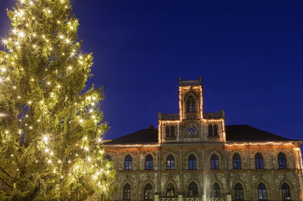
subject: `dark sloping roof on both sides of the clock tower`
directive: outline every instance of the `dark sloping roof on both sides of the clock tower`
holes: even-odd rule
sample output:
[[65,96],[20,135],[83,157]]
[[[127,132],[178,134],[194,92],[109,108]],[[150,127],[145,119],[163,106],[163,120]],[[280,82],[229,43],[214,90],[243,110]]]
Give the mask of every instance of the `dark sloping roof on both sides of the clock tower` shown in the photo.
[[[277,136],[273,133],[260,130],[249,125],[226,125],[226,141],[292,141],[288,138]],[[123,144],[153,144],[158,143],[158,128],[141,129],[129,135],[116,138],[104,145],[123,145]]]

